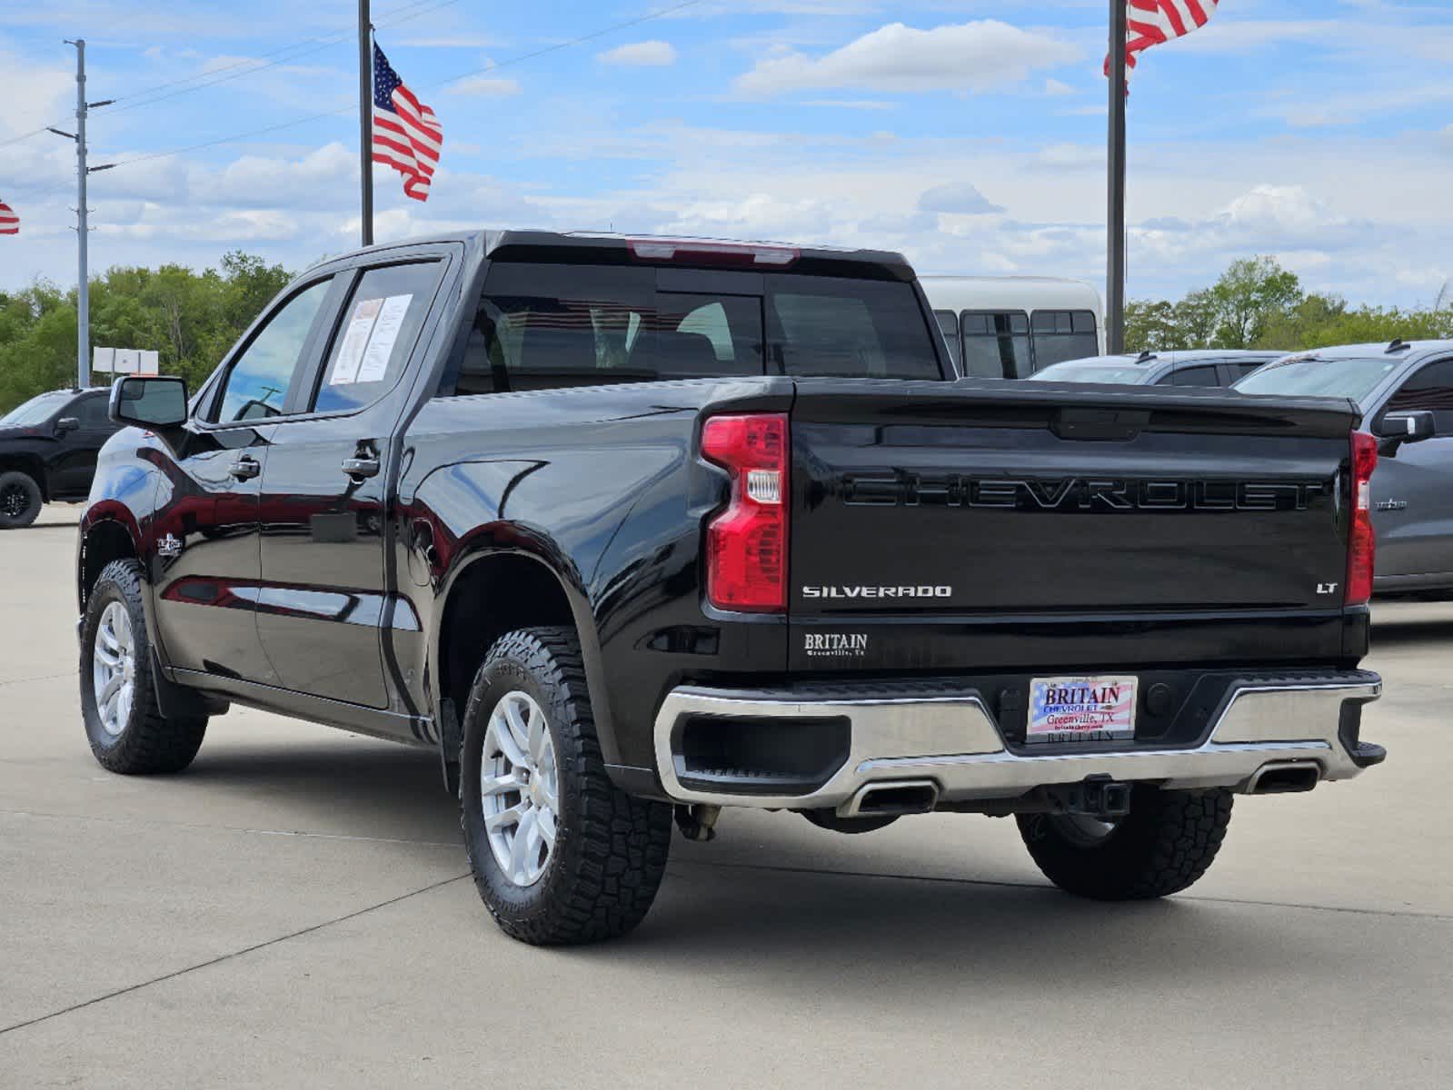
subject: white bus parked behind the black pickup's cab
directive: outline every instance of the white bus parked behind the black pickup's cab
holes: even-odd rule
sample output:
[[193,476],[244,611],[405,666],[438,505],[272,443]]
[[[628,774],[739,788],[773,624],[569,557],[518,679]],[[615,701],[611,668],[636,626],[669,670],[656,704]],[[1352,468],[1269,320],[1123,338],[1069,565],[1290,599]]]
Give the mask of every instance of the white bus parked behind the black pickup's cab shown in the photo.
[[1104,355],[1100,292],[1049,276],[920,276],[960,375],[1029,378]]

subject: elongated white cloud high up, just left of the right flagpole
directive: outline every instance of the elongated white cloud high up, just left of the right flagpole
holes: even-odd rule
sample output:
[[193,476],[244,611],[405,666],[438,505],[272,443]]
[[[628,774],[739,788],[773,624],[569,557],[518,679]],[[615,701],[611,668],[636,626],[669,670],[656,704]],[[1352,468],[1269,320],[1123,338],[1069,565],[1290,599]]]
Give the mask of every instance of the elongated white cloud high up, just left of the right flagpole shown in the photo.
[[758,61],[735,86],[753,97],[825,87],[987,92],[1078,57],[1072,45],[997,19],[931,31],[889,23],[824,57],[789,52]]

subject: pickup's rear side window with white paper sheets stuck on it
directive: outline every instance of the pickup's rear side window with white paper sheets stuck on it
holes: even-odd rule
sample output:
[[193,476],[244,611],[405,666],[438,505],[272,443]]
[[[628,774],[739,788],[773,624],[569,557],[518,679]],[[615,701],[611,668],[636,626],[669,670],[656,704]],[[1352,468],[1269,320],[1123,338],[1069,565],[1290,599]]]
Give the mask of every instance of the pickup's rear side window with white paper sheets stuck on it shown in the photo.
[[439,263],[369,269],[353,288],[312,411],[362,408],[394,388],[418,340],[439,282]]

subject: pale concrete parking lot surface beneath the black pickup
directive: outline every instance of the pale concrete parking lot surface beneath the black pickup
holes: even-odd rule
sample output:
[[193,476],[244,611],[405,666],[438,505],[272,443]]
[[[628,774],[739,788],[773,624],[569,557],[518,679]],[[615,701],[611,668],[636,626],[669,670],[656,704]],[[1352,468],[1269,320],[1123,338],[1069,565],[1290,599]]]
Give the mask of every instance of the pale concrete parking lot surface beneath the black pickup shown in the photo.
[[1453,603],[1376,610],[1388,763],[1239,798],[1187,894],[1051,888],[1011,821],[728,811],[631,937],[506,939],[427,751],[234,709],[125,779],[74,522],[0,535],[0,1086],[1453,1086]]

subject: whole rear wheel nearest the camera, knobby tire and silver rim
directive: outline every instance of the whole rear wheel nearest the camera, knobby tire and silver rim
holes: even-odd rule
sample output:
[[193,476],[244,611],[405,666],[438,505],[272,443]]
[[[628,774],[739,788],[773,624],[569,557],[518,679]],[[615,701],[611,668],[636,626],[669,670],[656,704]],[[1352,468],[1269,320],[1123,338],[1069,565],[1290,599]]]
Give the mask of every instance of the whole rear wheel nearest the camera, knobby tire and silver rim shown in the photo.
[[520,629],[490,648],[465,708],[459,783],[474,881],[506,934],[599,942],[645,919],[671,807],[606,775],[574,632]]

